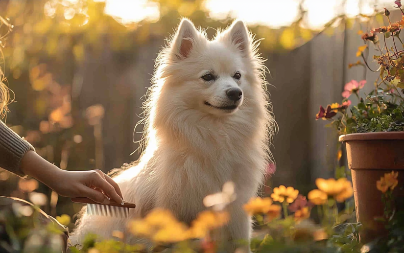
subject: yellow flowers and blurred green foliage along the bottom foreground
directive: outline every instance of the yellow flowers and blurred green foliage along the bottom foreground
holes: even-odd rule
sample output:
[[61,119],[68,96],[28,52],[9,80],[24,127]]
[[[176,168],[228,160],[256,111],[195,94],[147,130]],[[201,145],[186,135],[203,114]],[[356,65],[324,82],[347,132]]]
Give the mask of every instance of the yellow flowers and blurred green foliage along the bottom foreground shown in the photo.
[[[395,211],[393,199],[393,190],[403,191],[402,182],[397,180],[397,176],[398,172],[385,174],[384,179],[389,182],[387,189],[380,188],[379,183],[375,184],[375,187],[383,193],[382,203],[385,211],[379,221],[385,224],[387,230],[380,233],[380,237],[376,240],[365,245],[360,243],[359,233],[364,228],[361,223],[353,222],[356,220],[355,212],[350,208],[341,212],[337,210],[337,202],[352,200],[352,184],[346,178],[317,179],[318,189],[313,191],[322,191],[325,194],[324,201],[319,202],[317,194],[310,193],[307,200],[305,196],[299,194],[299,190],[280,185],[277,187],[278,191],[274,189],[274,193],[284,196],[284,199],[257,197],[244,205],[245,211],[249,215],[255,215],[259,224],[251,240],[251,251],[254,253],[402,252],[404,214]],[[234,186],[230,188],[206,196],[203,202],[208,210],[199,213],[190,226],[178,221],[168,210],[154,209],[144,218],[128,222],[127,230],[114,230],[112,239],[87,234],[82,245],[71,245],[68,241],[68,246],[71,253],[231,252],[228,240],[215,239],[219,229],[230,221],[227,205],[235,199]],[[346,194],[347,192],[350,194]],[[211,205],[212,203],[214,204]],[[320,223],[315,223],[310,218],[310,213],[316,209],[321,213]],[[308,215],[302,215],[303,210],[307,210]],[[62,239],[59,236],[62,231],[60,226],[39,222],[39,211],[37,206],[19,203],[13,203],[11,208],[0,210],[0,251],[4,250],[1,252],[60,252]],[[282,211],[284,216],[281,215]],[[71,222],[68,215],[57,218],[60,223]],[[151,245],[127,244],[127,239],[133,235],[150,239]],[[32,239],[33,237],[36,240]],[[238,245],[244,243],[240,241]]]

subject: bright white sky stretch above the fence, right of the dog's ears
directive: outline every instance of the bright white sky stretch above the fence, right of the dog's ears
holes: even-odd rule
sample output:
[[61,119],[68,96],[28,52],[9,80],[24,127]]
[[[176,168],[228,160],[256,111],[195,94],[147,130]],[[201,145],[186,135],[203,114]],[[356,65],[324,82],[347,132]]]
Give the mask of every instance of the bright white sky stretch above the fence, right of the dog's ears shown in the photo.
[[[224,19],[240,18],[249,24],[263,24],[273,28],[287,26],[298,18],[299,0],[207,0],[206,8],[210,17]],[[346,2],[345,8],[343,2]],[[370,15],[382,7],[392,7],[392,0],[306,0],[303,9],[307,10],[306,26],[321,29],[334,17],[346,14],[355,17],[358,14]],[[392,9],[392,8],[391,8]]]

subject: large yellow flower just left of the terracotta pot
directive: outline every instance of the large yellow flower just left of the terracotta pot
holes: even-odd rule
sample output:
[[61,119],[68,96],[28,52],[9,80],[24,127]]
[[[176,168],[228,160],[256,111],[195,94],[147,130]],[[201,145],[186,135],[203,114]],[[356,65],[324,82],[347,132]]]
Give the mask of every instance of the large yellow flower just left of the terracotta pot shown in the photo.
[[329,196],[333,196],[338,202],[343,202],[346,199],[352,197],[352,195],[354,194],[352,183],[346,178],[340,178],[338,180],[335,180],[333,178],[318,178],[316,179],[316,185],[318,189],[327,193]]

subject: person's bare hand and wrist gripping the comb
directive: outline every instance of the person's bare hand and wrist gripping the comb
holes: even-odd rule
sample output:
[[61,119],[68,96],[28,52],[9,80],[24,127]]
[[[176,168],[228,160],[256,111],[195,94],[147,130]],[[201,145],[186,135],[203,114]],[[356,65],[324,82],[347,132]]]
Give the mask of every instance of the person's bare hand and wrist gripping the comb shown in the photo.
[[86,197],[106,205],[110,200],[123,203],[118,184],[100,170],[62,170],[33,151],[24,155],[21,168],[26,175],[41,181],[61,196]]

